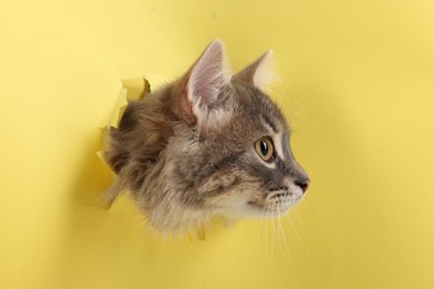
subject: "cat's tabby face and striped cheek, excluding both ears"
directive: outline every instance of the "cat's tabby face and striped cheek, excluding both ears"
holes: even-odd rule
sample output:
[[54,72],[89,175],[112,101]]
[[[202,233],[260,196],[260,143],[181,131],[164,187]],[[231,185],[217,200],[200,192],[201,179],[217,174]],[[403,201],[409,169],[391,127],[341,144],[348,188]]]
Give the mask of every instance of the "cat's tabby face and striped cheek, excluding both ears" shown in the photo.
[[292,153],[287,122],[260,90],[237,79],[231,88],[236,112],[226,123],[205,137],[196,131],[183,148],[176,146],[177,151],[187,148],[185,158],[175,161],[178,179],[195,188],[184,200],[231,217],[284,213],[309,183]]

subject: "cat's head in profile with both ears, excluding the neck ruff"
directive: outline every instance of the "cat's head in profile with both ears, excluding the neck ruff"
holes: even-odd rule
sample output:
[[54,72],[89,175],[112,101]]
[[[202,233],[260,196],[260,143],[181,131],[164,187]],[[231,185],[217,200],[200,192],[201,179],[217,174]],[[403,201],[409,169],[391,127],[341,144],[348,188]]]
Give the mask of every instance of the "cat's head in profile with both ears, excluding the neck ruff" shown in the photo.
[[303,198],[309,177],[292,152],[284,114],[264,92],[270,56],[231,74],[216,40],[183,78],[188,126],[178,128],[169,153],[188,206],[260,217],[286,212]]

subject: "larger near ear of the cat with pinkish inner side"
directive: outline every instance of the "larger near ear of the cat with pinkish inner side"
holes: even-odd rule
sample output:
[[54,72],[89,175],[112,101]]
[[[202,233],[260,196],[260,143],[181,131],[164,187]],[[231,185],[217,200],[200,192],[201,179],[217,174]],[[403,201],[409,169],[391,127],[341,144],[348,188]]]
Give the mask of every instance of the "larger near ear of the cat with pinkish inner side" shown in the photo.
[[191,68],[187,83],[187,98],[196,118],[206,118],[218,107],[220,90],[229,82],[224,46],[214,40]]

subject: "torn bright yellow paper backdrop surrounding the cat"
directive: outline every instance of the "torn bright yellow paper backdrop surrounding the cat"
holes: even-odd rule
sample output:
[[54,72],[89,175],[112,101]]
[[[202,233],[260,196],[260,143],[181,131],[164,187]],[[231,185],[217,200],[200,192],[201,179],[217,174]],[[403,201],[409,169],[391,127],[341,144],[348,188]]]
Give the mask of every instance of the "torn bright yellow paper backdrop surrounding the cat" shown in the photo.
[[[1,288],[434,288],[433,1],[0,7]],[[161,241],[128,198],[96,206],[121,80],[174,79],[214,38],[235,70],[275,50],[313,179],[287,250],[277,221]]]

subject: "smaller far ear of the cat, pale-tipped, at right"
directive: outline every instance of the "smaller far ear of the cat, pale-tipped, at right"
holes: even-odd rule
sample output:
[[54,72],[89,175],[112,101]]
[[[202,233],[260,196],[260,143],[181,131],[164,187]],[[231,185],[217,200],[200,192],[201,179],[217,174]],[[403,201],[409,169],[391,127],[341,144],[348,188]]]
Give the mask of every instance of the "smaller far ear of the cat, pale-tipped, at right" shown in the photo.
[[265,90],[269,83],[277,79],[277,74],[270,68],[272,58],[273,50],[268,50],[255,62],[236,73],[234,78],[246,81],[260,90]]

